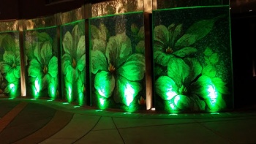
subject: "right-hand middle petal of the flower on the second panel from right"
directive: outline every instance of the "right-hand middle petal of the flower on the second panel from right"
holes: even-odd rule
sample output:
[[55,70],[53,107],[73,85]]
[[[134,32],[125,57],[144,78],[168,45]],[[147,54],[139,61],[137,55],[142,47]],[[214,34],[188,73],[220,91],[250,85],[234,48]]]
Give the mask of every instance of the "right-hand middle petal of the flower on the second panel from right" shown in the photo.
[[142,80],[145,75],[144,61],[127,61],[118,69],[118,73],[128,80]]

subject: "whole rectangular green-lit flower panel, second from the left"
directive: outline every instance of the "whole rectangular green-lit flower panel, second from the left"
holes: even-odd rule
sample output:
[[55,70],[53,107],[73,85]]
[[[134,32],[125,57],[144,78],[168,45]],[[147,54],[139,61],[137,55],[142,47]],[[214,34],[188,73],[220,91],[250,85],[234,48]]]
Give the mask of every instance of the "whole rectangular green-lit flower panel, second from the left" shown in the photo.
[[59,97],[56,28],[25,31],[26,87],[34,98]]

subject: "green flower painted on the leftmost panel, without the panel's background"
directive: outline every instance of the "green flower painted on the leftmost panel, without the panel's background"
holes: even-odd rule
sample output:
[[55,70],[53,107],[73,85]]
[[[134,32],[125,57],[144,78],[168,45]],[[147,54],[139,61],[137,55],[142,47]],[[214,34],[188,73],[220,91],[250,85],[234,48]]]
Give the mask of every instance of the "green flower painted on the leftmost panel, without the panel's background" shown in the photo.
[[10,34],[1,37],[1,48],[4,48],[3,61],[0,62],[1,75],[7,80],[1,87],[4,94],[17,96],[20,87],[20,48]]

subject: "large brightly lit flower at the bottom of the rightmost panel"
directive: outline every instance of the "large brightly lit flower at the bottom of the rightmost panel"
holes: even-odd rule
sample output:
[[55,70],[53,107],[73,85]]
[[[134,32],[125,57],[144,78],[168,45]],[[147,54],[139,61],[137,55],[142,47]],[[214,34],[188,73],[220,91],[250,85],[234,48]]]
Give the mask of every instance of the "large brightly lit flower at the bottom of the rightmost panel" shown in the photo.
[[170,58],[167,76],[160,76],[156,81],[156,93],[168,102],[171,110],[222,109],[225,107],[221,94],[224,83],[201,72],[196,58]]

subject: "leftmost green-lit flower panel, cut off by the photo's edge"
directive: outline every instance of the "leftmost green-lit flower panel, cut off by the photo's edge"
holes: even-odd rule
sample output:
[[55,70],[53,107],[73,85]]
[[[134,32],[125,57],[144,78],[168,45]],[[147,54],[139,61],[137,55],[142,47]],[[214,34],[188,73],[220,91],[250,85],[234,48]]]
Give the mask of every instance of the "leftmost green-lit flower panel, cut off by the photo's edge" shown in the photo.
[[0,34],[0,95],[20,96],[20,46],[18,32]]

